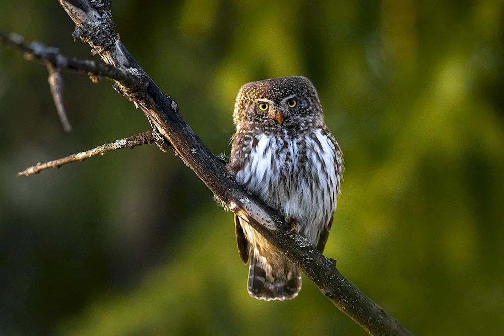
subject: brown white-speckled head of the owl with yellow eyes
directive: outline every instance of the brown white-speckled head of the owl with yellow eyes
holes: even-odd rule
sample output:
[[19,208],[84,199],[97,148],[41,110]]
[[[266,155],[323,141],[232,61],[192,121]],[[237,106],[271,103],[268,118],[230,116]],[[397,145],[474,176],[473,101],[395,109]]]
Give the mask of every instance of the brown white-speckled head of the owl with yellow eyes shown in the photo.
[[302,76],[265,79],[243,85],[236,97],[237,129],[303,129],[323,123],[317,90]]

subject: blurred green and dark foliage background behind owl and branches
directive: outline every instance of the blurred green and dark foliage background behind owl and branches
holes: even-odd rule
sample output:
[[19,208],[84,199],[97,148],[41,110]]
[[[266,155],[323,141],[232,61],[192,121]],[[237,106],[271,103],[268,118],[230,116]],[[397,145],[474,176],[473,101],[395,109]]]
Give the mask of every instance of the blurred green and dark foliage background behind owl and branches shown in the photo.
[[[304,75],[346,162],[325,254],[418,335],[504,329],[504,3],[115,1],[124,44],[215,153],[246,82]],[[92,58],[57,2],[0,2],[0,30]],[[96,57],[94,58],[97,59]],[[149,130],[111,82],[0,48],[0,334],[365,332],[305,278],[248,297],[232,214],[172,152],[16,172]]]

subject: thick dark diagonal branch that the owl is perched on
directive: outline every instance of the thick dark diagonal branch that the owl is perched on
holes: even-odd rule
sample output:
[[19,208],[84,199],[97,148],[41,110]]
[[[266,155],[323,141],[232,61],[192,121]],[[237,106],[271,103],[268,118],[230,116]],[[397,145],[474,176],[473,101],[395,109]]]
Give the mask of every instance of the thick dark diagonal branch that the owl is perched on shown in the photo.
[[[253,195],[245,193],[234,178],[203,144],[178,113],[176,102],[161,92],[118,39],[107,0],[58,0],[77,28],[80,37],[102,60],[120,71],[134,69],[145,89],[130,85],[127,80],[116,83],[115,89],[141,107],[159,133],[173,146],[175,153],[198,175],[207,187],[231,211],[247,220],[279,251],[299,266],[335,306],[350,316],[372,335],[411,335],[398,321],[359,291],[328,259],[299,235],[284,234],[283,216],[265,206]],[[94,7],[92,4],[100,5]],[[133,76],[132,76],[133,77]]]

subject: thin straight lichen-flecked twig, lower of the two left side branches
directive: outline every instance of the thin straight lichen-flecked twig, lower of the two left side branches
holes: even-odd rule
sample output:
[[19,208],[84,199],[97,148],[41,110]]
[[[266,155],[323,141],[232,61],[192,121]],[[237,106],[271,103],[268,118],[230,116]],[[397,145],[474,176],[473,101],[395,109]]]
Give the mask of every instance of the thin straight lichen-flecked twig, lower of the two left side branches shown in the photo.
[[[92,157],[92,156],[96,156],[96,155],[103,155],[106,152],[111,152],[113,150],[117,150],[117,149],[121,149],[121,148],[128,147],[128,148],[133,149],[136,146],[140,146],[143,144],[151,144],[154,141],[159,141],[159,140],[163,141],[162,137],[159,135],[159,133],[154,132],[154,131],[135,134],[129,138],[116,140],[113,143],[106,143],[104,145],[87,150],[85,152],[72,154],[67,157],[59,158],[57,160],[52,160],[49,162],[37,163],[36,165],[31,166],[22,172],[19,172],[18,176],[23,176],[23,175],[30,176],[32,174],[38,174],[41,171],[48,169],[48,168],[59,168],[60,166],[67,164],[67,163],[71,163],[71,162],[75,162],[75,161],[84,161],[88,157]],[[169,148],[169,145],[167,145],[166,142],[158,143],[158,146],[163,146],[163,147]]]

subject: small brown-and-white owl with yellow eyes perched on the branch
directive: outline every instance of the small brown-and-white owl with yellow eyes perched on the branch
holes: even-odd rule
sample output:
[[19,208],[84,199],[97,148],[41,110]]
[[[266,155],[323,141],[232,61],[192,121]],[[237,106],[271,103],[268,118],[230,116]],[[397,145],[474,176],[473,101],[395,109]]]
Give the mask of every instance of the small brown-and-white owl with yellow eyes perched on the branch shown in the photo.
[[[343,171],[338,143],[329,132],[317,90],[301,76],[243,85],[233,113],[236,133],[227,169],[247,192],[285,215],[291,230],[324,250]],[[235,215],[236,241],[250,261],[248,293],[288,300],[301,289],[301,271]]]

